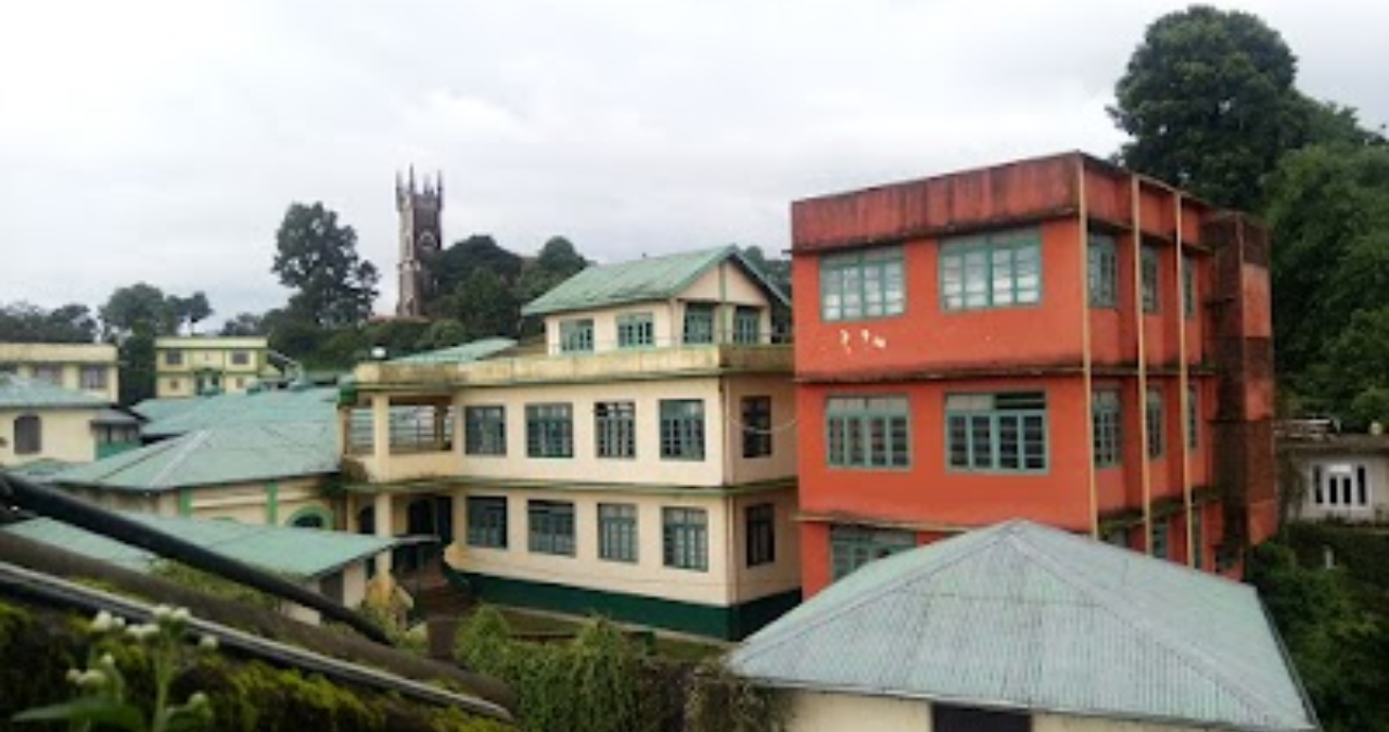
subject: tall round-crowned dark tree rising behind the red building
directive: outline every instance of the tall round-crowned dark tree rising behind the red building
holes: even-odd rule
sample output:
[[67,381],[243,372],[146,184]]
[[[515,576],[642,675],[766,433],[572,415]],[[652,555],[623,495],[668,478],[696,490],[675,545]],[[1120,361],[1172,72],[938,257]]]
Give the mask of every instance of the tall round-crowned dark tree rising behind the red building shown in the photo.
[[1110,117],[1136,171],[1246,211],[1264,176],[1300,146],[1311,113],[1297,60],[1258,17],[1192,6],[1149,25],[1115,85]]

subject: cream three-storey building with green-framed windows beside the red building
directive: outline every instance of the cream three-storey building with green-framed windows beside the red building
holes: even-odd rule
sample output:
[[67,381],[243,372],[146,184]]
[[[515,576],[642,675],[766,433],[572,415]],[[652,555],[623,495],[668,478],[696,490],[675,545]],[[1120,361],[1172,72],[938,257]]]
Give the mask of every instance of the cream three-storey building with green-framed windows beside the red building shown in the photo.
[[733,247],[653,257],[528,304],[536,346],[361,365],[349,519],[440,536],[486,601],[742,638],[800,597],[783,306]]

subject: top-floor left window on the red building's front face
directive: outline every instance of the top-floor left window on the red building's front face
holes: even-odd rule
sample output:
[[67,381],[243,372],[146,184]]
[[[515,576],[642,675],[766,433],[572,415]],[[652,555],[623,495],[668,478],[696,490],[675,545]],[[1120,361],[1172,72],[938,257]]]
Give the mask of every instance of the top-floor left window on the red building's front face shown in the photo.
[[857,321],[900,315],[907,306],[901,247],[820,260],[820,315]]

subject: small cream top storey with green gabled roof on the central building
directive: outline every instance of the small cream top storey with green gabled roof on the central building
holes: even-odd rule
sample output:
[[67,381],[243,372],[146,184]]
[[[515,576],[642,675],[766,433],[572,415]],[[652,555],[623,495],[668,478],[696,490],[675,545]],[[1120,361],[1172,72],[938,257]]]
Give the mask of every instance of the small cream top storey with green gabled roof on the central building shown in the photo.
[[786,296],[735,246],[590,267],[521,308],[551,354],[772,343]]

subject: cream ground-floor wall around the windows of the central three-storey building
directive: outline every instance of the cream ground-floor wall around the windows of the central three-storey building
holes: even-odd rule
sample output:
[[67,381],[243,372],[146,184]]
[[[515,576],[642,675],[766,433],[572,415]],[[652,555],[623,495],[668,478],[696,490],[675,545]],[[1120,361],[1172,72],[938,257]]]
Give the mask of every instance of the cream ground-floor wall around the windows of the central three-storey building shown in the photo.
[[[507,499],[507,549],[467,546],[467,496]],[[456,493],[463,519],[454,526],[457,540],[446,558],[460,571],[500,575],[531,582],[549,582],[593,590],[664,597],[696,604],[726,607],[800,586],[799,553],[795,546],[795,492],[782,489],[760,497],[679,494],[636,494],[628,492],[467,489]],[[528,549],[529,500],[574,503],[575,556],[531,553]],[[743,507],[771,500],[776,503],[776,561],[745,568]],[[599,503],[636,506],[638,561],[599,558]],[[664,565],[663,508],[703,508],[708,518],[708,569]]]

